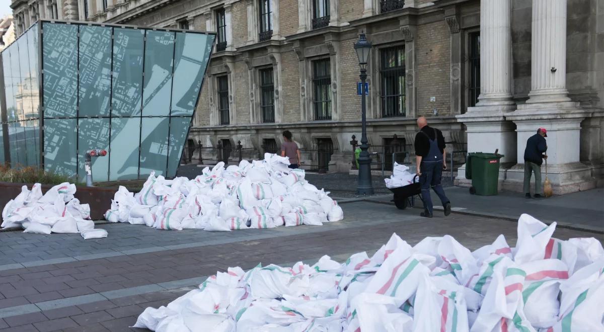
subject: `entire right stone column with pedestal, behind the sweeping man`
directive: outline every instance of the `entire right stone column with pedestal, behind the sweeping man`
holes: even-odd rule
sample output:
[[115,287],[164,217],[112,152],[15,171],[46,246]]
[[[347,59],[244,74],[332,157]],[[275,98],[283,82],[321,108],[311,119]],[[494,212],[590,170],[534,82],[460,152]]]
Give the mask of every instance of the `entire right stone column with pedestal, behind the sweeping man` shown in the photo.
[[509,189],[522,190],[526,141],[539,127],[547,129],[548,178],[554,194],[596,185],[590,168],[579,162],[581,123],[591,112],[568,98],[566,24],[566,0],[533,0],[531,91],[525,104],[506,115],[518,133],[518,164],[507,171],[504,183]]

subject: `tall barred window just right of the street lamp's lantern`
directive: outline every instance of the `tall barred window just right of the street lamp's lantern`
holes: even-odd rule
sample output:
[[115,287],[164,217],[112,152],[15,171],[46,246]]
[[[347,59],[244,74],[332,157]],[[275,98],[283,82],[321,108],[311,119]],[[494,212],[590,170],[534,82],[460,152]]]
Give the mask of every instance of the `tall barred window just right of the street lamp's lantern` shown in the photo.
[[384,48],[380,53],[382,117],[404,117],[405,46]]

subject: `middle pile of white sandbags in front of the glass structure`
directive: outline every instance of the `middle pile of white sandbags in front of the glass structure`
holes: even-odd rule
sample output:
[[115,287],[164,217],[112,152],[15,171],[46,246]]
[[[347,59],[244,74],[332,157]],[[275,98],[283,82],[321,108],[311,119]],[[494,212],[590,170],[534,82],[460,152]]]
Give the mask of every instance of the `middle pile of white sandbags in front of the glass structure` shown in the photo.
[[344,218],[329,193],[304,180],[304,170],[288,165],[288,158],[266,153],[263,161],[226,168],[219,162],[193,180],[152,173],[140,193],[120,187],[105,219],[157,229],[231,231],[320,226]]

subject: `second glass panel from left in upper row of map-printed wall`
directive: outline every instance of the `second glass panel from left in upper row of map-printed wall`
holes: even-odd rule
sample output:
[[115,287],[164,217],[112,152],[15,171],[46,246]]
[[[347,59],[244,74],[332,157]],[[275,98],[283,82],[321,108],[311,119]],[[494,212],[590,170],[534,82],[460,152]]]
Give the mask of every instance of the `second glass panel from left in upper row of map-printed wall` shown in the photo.
[[109,115],[111,28],[80,26],[79,117]]

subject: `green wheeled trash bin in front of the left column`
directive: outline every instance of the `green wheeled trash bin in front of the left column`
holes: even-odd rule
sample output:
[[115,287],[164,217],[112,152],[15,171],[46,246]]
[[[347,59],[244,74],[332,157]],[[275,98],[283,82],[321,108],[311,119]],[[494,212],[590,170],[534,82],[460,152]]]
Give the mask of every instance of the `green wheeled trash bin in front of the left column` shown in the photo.
[[472,152],[466,159],[466,179],[472,180],[471,194],[492,196],[497,194],[500,159],[498,153]]

